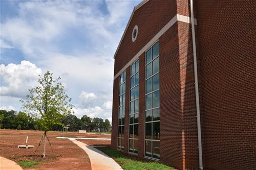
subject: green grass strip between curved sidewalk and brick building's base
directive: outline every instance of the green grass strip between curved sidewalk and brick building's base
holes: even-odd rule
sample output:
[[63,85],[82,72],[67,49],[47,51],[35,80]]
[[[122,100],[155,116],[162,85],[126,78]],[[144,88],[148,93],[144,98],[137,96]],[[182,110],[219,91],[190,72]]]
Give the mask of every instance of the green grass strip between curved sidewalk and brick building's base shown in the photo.
[[165,164],[150,161],[144,162],[136,160],[134,157],[129,157],[124,155],[122,152],[117,150],[112,150],[110,147],[95,147],[98,150],[104,152],[113,158],[124,170],[170,170],[175,169],[174,167],[167,166]]

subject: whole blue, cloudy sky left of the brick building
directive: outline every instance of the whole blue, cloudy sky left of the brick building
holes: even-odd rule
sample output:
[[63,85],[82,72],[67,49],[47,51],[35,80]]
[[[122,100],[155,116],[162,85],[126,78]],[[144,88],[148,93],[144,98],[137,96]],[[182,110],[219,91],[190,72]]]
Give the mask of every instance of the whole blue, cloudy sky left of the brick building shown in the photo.
[[61,77],[77,117],[112,119],[114,59],[141,1],[1,1],[0,108],[20,99],[47,70]]

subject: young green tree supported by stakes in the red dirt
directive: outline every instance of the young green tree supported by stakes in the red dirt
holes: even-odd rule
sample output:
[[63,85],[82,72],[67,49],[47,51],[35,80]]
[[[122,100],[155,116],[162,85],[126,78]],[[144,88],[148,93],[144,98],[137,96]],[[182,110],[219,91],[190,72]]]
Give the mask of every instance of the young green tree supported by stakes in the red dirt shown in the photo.
[[44,139],[44,157],[46,154],[46,138],[48,139],[47,131],[55,125],[64,126],[60,122],[61,118],[70,115],[74,107],[69,104],[71,98],[65,93],[64,86],[61,85],[59,80],[60,77],[54,80],[50,71],[47,71],[43,77],[39,75],[39,86],[29,89],[25,101],[20,100],[25,112],[37,118],[40,127],[44,130],[42,137]]

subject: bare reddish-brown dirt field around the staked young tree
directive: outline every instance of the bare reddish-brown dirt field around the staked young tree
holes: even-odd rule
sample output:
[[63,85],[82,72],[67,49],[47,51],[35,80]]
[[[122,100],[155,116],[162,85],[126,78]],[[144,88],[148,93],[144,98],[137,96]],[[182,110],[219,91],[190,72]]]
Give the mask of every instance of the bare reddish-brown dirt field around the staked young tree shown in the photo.
[[[90,159],[86,152],[77,147],[69,139],[56,139],[62,136],[61,132],[48,132],[48,137],[52,144],[53,152],[47,142],[46,158],[42,158],[43,145],[41,145],[34,155],[36,147],[44,132],[25,130],[0,130],[0,156],[11,159],[15,162],[20,160],[36,160],[42,163],[34,168],[24,169],[91,169]],[[26,137],[29,136],[28,144],[35,145],[34,149],[18,149],[17,145],[26,144]],[[65,137],[96,137],[111,138],[111,135],[101,134],[78,134],[73,132],[64,133]],[[80,141],[89,145],[110,145],[110,140],[84,140]]]

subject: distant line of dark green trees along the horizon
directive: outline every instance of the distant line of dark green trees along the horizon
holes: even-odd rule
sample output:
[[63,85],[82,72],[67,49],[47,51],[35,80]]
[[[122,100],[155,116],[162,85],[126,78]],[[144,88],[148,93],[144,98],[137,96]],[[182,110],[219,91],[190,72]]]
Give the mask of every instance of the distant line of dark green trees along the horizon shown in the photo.
[[[24,112],[14,110],[0,110],[0,129],[19,129],[19,130],[42,130],[38,118],[30,117]],[[109,119],[91,118],[83,115],[77,118],[74,114],[63,116],[61,123],[69,125],[68,131],[87,130],[88,132],[110,132],[111,124]],[[62,131],[61,126],[52,127],[52,131]]]

